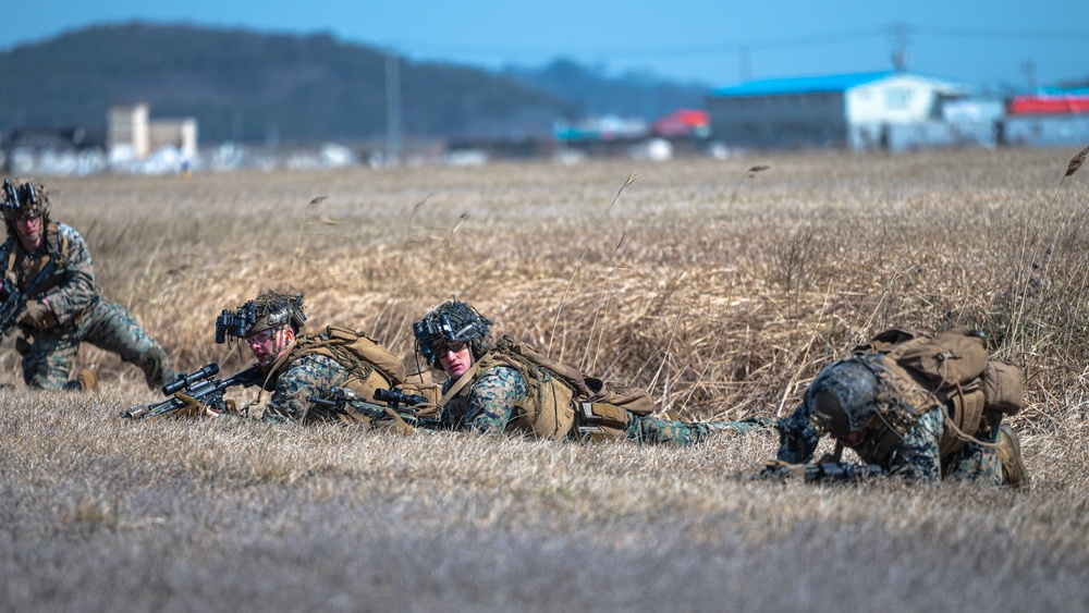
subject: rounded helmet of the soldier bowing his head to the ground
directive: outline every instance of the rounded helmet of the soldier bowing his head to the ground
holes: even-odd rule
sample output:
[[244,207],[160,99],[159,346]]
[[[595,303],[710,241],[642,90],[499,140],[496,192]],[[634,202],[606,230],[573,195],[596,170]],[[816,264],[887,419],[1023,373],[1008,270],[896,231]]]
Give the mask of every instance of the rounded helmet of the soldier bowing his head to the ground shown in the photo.
[[877,376],[861,359],[835,361],[817,376],[805,402],[818,432],[845,437],[867,430],[878,417]]

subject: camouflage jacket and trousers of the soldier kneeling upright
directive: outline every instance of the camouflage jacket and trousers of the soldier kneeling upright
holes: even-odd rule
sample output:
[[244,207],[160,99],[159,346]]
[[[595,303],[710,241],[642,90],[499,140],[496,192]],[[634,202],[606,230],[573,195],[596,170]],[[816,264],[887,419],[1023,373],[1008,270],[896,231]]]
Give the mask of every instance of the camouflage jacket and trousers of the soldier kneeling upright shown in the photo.
[[[29,348],[23,347],[23,380],[33,388],[76,388],[70,381],[79,343],[118,354],[144,371],[148,388],[157,389],[174,378],[162,347],[120,305],[108,303],[95,284],[95,274],[87,244],[78,232],[65,224],[45,224],[41,248],[26,253],[9,229],[8,240],[0,247],[0,261],[11,261],[9,278],[21,291],[37,277],[47,256],[59,259],[58,268],[47,281],[48,290],[30,299],[45,298],[56,316],[54,326],[46,329],[26,323],[20,330],[33,338]],[[66,249],[62,245],[66,243]],[[51,286],[50,286],[51,285]],[[41,285],[39,285],[41,286]],[[25,352],[25,353],[24,353]]]

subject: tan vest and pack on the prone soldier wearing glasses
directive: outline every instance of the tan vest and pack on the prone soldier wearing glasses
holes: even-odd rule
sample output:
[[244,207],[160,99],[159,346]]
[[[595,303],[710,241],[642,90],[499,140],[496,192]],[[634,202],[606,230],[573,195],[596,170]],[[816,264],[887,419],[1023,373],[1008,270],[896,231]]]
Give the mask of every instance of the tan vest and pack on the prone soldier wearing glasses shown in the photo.
[[[389,390],[405,384],[404,365],[395,355],[370,336],[347,328],[329,326],[323,334],[299,336],[287,354],[284,366],[308,355],[332,358],[347,369],[348,379],[343,387],[367,401],[375,397],[375,390]],[[335,417],[348,424],[369,421],[354,412],[340,413]]]

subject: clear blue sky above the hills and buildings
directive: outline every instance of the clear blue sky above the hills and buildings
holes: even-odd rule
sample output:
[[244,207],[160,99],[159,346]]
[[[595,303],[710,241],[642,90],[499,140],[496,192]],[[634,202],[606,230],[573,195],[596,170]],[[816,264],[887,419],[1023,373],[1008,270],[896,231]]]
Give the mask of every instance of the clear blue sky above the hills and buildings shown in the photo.
[[485,68],[565,57],[610,74],[646,71],[715,87],[885,70],[897,48],[910,70],[984,88],[1089,79],[1086,0],[37,0],[9,2],[3,17],[3,50],[142,20],[320,32],[414,60]]

